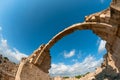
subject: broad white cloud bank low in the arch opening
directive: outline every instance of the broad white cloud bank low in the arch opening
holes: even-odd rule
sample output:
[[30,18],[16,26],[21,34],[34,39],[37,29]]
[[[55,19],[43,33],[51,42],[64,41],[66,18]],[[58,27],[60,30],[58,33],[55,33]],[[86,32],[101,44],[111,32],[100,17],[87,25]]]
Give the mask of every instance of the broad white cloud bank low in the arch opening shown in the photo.
[[86,72],[94,71],[100,66],[102,59],[96,60],[93,56],[87,56],[83,62],[76,62],[73,65],[64,63],[52,64],[50,69],[51,76],[75,76]]

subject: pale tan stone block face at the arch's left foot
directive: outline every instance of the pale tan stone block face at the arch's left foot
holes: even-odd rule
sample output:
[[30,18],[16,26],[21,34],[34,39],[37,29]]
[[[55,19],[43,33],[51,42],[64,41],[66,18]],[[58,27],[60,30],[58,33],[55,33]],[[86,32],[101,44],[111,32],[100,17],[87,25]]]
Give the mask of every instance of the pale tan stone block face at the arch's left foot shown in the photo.
[[[17,76],[20,75],[20,76]],[[50,80],[49,74],[43,72],[39,67],[22,60],[15,80]]]

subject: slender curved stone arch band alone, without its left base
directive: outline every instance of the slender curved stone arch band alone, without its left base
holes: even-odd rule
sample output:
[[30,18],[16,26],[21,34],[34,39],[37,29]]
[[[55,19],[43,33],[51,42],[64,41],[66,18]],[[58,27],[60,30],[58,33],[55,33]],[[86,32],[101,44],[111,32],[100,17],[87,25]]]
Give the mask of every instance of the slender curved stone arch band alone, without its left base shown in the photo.
[[42,54],[50,50],[50,48],[54,46],[54,44],[58,42],[60,39],[62,39],[64,36],[69,35],[77,30],[87,30],[87,29],[92,30],[96,35],[98,35],[100,38],[107,41],[108,43],[111,43],[113,41],[111,37],[113,37],[116,34],[116,30],[117,30],[116,27],[106,23],[83,22],[83,23],[74,24],[64,29],[63,31],[59,32],[57,35],[55,35],[41,50],[34,64],[40,65],[42,63],[42,60],[40,60]]

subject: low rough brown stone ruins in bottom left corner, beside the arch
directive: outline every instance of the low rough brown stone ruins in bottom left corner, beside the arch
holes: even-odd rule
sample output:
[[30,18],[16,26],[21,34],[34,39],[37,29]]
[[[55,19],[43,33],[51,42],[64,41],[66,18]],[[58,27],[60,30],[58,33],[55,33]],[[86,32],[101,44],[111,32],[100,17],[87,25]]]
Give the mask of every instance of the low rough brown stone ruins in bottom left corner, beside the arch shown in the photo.
[[18,65],[0,55],[0,80],[15,80]]

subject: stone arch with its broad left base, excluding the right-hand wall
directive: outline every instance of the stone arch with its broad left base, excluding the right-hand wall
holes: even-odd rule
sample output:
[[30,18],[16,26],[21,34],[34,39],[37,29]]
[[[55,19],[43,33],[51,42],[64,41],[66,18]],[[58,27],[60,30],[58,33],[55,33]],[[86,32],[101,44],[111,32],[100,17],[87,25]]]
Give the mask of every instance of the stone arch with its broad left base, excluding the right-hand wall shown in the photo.
[[96,35],[101,37],[103,40],[106,40],[106,49],[108,51],[112,51],[110,45],[116,44],[114,43],[114,39],[118,30],[116,26],[100,22],[83,22],[74,24],[59,32],[47,44],[39,47],[31,56],[23,59],[19,65],[15,80],[50,80],[48,74],[51,64],[49,52],[50,48],[64,36],[69,35],[77,30],[86,29],[92,30]]

